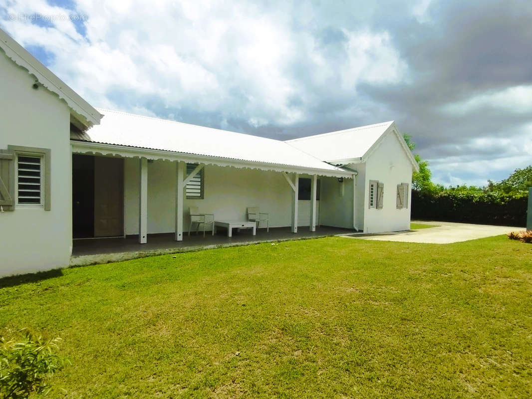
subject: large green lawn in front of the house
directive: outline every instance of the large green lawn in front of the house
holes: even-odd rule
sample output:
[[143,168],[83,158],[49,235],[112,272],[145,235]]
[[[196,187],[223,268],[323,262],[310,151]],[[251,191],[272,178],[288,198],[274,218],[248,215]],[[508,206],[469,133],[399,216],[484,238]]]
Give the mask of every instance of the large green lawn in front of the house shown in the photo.
[[530,397],[531,248],[330,237],[65,269],[0,281],[0,326],[63,338],[50,397]]

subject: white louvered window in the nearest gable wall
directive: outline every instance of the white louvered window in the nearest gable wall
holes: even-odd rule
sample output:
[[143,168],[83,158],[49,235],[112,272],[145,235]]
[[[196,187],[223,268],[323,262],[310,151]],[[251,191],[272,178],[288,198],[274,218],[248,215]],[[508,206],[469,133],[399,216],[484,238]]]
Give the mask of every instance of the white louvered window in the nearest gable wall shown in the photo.
[[40,205],[43,185],[42,157],[19,155],[16,167],[18,203]]

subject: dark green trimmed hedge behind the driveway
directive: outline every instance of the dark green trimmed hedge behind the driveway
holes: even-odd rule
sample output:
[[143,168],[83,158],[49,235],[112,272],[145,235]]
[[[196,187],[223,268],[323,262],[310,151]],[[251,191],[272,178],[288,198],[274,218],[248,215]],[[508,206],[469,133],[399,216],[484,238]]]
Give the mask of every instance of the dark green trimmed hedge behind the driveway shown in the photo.
[[412,219],[525,227],[527,206],[527,193],[412,190]]

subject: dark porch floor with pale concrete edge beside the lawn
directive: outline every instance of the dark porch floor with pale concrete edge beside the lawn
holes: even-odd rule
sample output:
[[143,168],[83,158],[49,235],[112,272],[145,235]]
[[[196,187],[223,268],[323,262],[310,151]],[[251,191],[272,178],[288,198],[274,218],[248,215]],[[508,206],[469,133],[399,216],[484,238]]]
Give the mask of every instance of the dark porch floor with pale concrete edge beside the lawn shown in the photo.
[[307,238],[318,238],[327,236],[341,236],[353,234],[356,230],[343,229],[338,227],[316,227],[316,231],[310,231],[309,227],[298,227],[298,232],[293,234],[290,227],[270,228],[257,230],[254,236],[251,229],[243,229],[237,232],[233,230],[232,237],[227,237],[227,230],[219,228],[217,234],[211,232],[195,234],[195,232],[184,233],[182,241],[174,241],[173,233],[148,234],[147,243],[139,244],[137,236],[127,238],[88,238],[75,239],[73,242],[71,266],[81,266],[88,264],[109,263],[135,259],[138,257],[163,255],[169,253],[188,252],[204,250],[209,248],[219,248],[228,246],[239,246],[257,244],[262,242],[277,242],[286,240],[297,240]]

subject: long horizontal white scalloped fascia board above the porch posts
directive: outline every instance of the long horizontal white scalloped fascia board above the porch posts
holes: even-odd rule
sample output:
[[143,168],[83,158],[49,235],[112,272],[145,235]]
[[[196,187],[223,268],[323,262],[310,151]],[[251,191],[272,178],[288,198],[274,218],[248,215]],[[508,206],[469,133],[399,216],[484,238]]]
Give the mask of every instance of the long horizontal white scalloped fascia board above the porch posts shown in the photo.
[[326,177],[344,177],[353,178],[353,172],[346,170],[328,170],[314,168],[298,168],[290,165],[280,165],[265,162],[252,162],[243,160],[234,160],[229,158],[186,154],[173,151],[164,151],[161,149],[127,147],[115,144],[90,143],[78,140],[70,140],[72,153],[92,154],[92,155],[111,155],[126,158],[144,157],[152,160],[165,161],[183,161],[187,163],[204,163],[206,165],[216,165],[219,167],[234,167],[246,169],[259,169],[265,171],[288,172],[298,174],[318,174]]

